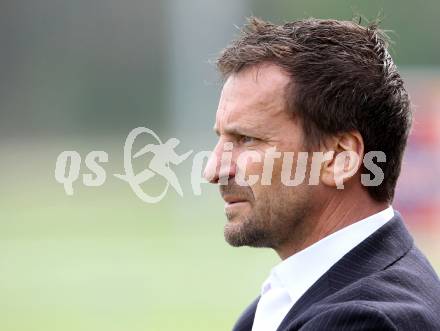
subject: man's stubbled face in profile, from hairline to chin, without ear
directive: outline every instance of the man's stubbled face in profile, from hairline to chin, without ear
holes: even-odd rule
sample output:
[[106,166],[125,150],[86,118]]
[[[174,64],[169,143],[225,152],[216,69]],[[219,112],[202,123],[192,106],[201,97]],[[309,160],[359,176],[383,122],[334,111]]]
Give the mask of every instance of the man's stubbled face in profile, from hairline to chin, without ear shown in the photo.
[[[216,114],[219,136],[205,169],[212,183],[223,182],[220,193],[225,200],[225,239],[233,246],[277,248],[299,236],[297,231],[311,206],[311,188],[305,184],[285,186],[281,182],[282,157],[274,160],[270,185],[262,185],[263,160],[267,150],[294,152],[303,148],[299,121],[286,109],[289,76],[273,64],[253,66],[229,76],[223,86]],[[230,167],[221,166],[226,143],[232,143]],[[239,158],[243,152],[258,153],[261,162]],[[246,164],[247,163],[247,164]],[[237,184],[236,176],[258,175],[252,185]],[[292,171],[292,178],[294,171]]]

